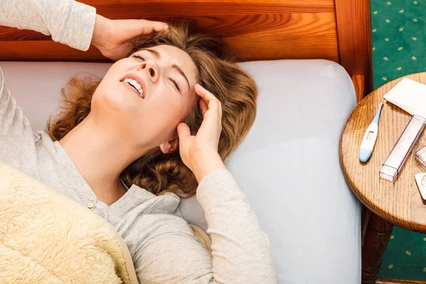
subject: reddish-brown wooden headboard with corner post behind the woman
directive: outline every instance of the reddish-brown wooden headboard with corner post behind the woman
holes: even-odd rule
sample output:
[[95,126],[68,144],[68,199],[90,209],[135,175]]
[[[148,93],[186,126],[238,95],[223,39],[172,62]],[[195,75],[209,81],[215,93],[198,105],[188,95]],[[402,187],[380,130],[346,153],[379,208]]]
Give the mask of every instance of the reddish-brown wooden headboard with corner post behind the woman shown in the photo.
[[[239,61],[333,60],[349,72],[359,94],[372,87],[369,0],[79,1],[107,18],[185,18],[197,30],[223,36]],[[110,62],[94,47],[82,52],[41,33],[3,26],[0,60]]]

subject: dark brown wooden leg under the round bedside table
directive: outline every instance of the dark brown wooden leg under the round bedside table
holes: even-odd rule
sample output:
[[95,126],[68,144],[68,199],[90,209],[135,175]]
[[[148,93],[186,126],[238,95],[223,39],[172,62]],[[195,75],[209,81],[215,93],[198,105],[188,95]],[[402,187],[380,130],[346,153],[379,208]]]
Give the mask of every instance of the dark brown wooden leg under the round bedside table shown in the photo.
[[373,212],[370,213],[368,226],[364,235],[362,246],[362,266],[361,283],[374,284],[380,271],[383,253],[388,246],[393,224],[378,217]]

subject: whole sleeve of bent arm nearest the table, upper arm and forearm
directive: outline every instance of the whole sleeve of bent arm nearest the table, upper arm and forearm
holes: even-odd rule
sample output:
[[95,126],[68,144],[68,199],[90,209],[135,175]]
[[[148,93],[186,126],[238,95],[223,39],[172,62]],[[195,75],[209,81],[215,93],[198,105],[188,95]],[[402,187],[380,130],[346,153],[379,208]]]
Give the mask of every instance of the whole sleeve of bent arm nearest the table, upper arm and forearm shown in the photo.
[[[268,238],[228,170],[205,176],[197,198],[206,214],[212,253],[185,220],[163,215],[155,234],[139,244],[141,283],[278,283]],[[179,220],[180,219],[180,220]]]

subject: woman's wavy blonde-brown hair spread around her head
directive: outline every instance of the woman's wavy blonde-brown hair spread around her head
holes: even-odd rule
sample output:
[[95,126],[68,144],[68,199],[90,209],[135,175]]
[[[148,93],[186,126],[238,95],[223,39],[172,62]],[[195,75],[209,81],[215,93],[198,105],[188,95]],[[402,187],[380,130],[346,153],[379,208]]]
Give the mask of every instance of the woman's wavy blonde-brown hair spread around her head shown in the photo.
[[[141,48],[155,45],[173,45],[190,55],[197,66],[199,83],[222,102],[222,133],[218,152],[225,159],[253,125],[256,116],[256,84],[228,57],[229,53],[226,53],[226,45],[222,39],[192,33],[185,23],[169,26],[168,30],[153,33],[136,44],[129,55]],[[61,111],[50,116],[48,121],[48,133],[53,141],[59,141],[89,114],[92,95],[102,80],[97,76],[92,79],[91,75],[88,73],[83,78],[76,75],[62,88]],[[200,98],[197,96],[198,99]],[[195,135],[202,123],[200,107],[194,107],[185,123]],[[120,178],[128,187],[135,184],[155,195],[175,192],[180,197],[190,197],[197,190],[197,180],[182,162],[179,151],[170,154],[164,154],[160,150],[147,153],[133,161],[121,173]]]

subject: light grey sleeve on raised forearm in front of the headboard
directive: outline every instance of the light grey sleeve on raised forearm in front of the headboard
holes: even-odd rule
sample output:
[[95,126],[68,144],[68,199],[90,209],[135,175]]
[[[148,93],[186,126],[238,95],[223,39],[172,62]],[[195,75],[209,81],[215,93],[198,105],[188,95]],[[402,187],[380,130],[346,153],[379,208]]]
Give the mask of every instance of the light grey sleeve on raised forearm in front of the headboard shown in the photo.
[[0,26],[51,35],[58,43],[86,51],[96,9],[74,0],[1,0]]

